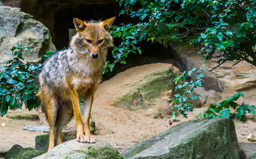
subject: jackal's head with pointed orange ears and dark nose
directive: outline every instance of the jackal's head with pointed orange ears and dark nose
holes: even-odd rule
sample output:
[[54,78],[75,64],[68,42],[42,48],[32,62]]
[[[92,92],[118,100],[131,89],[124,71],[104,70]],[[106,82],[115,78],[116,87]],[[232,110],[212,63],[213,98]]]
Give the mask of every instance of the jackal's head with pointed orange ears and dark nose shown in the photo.
[[80,53],[90,55],[97,59],[104,57],[106,49],[113,47],[113,39],[109,33],[110,27],[116,17],[104,21],[82,21],[74,18],[74,25],[77,34],[72,37],[71,47],[76,48]]

